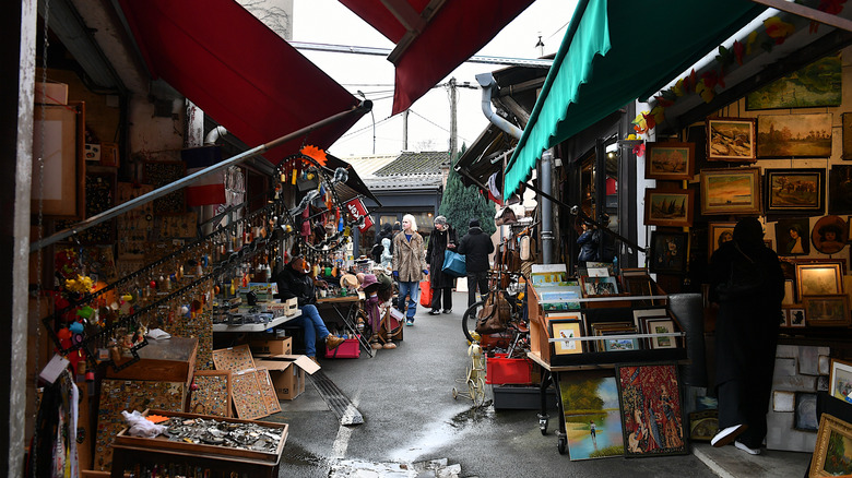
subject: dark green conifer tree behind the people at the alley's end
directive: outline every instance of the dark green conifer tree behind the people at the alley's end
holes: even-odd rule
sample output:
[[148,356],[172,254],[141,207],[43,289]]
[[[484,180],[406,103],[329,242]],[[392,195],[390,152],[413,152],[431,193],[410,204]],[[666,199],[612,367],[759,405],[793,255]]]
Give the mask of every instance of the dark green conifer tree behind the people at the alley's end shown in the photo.
[[[464,153],[466,148],[466,145],[462,145],[461,152]],[[465,187],[452,166],[450,167],[438,214],[447,217],[450,226],[455,228],[459,239],[468,234],[468,224],[474,217],[480,219],[483,232],[493,235],[497,230],[494,225],[495,204],[480,194],[475,186]]]

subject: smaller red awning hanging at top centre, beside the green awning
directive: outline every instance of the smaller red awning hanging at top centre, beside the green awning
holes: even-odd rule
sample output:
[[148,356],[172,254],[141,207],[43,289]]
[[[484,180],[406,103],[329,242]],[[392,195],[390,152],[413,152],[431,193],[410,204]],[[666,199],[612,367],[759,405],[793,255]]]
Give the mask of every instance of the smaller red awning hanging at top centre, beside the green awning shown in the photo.
[[397,44],[392,115],[474,56],[533,0],[340,0]]

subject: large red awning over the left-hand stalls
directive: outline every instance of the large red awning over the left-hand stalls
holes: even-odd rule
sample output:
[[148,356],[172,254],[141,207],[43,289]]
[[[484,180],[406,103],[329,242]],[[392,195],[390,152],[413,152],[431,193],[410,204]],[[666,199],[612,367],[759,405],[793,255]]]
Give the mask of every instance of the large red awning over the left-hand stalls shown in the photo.
[[[351,109],[358,99],[234,0],[119,0],[154,79],[162,77],[249,146]],[[365,112],[367,110],[364,110]],[[353,115],[267,153],[328,148]]]

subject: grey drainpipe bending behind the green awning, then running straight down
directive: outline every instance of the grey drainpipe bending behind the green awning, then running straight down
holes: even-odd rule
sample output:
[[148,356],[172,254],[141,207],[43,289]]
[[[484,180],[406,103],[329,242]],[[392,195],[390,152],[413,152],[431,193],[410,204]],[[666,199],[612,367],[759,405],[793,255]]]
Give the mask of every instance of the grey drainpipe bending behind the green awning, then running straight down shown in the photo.
[[[521,139],[523,130],[507,121],[492,109],[492,88],[495,85],[494,75],[490,73],[481,73],[476,75],[476,81],[482,86],[482,112],[497,128],[510,134],[517,140]],[[505,167],[504,167],[505,169]],[[553,152],[547,150],[542,154],[541,164],[541,188],[544,194],[551,195],[553,190]],[[541,198],[542,204],[542,264],[553,262],[553,204],[545,195]]]

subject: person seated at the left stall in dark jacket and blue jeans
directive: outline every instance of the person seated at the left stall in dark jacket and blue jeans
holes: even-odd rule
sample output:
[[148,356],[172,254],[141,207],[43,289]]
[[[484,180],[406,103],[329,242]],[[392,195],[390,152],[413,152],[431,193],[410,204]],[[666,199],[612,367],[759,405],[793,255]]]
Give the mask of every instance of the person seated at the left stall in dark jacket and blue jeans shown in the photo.
[[298,300],[301,315],[289,321],[289,323],[299,325],[305,330],[305,355],[317,361],[317,339],[326,342],[329,350],[343,344],[344,338],[335,337],[326,328],[326,323],[317,311],[317,294],[315,287],[326,288],[328,284],[324,280],[316,280],[308,274],[310,267],[305,258],[295,255],[287,265],[284,266],[273,277],[279,286],[279,297],[282,301],[296,298]]

